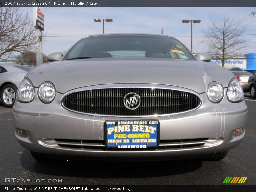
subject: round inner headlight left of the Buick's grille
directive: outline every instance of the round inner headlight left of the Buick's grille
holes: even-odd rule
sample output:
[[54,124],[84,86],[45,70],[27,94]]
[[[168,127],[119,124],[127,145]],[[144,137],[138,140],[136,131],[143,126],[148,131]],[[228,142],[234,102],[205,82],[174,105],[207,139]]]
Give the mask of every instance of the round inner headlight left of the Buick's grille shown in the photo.
[[38,87],[38,97],[44,103],[52,102],[55,94],[55,87],[51,82],[44,82]]

